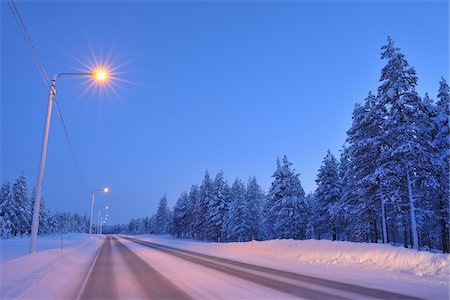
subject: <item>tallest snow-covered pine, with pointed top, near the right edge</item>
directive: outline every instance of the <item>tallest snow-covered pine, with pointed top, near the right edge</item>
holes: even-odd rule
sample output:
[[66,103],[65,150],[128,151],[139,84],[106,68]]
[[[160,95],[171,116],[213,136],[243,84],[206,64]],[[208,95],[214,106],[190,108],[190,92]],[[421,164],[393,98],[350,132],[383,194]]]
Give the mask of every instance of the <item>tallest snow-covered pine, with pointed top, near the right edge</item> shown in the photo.
[[[386,149],[382,153],[382,167],[391,174],[383,187],[387,186],[385,192],[394,196],[397,210],[407,213],[403,208],[409,208],[413,247],[419,249],[413,189],[420,189],[421,181],[431,175],[432,122],[426,105],[415,91],[415,70],[391,38],[382,50],[381,58],[387,60],[378,89],[378,98],[387,109],[383,124]],[[406,221],[404,223],[406,228]],[[406,229],[404,231],[406,233]]]

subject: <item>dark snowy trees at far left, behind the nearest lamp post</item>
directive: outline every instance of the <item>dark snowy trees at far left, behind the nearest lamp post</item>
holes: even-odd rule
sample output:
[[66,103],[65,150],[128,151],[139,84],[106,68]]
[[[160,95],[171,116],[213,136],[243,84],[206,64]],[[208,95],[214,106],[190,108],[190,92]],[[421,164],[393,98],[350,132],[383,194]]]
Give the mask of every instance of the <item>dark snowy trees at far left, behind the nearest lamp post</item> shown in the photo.
[[[5,181],[0,188],[0,237],[29,236],[33,216],[34,192],[28,194],[24,176],[11,184]],[[39,235],[68,232],[88,232],[86,215],[70,212],[51,213],[41,199]]]

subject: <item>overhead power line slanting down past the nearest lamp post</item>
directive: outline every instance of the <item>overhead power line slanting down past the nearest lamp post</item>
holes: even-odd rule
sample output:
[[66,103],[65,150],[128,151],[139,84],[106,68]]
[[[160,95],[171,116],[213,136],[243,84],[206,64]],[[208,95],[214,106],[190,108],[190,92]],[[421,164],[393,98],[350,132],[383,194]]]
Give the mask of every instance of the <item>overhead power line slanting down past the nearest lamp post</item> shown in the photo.
[[[50,79],[49,79],[49,77],[47,75],[47,72],[46,72],[46,70],[44,68],[44,64],[42,63],[42,60],[41,60],[41,58],[39,56],[39,52],[37,50],[37,47],[34,45],[33,40],[31,39],[31,36],[28,33],[27,28],[25,27],[23,19],[22,19],[21,15],[20,15],[19,10],[17,9],[16,4],[14,3],[14,0],[8,0],[8,6],[9,6],[9,9],[11,10],[11,12],[12,12],[12,14],[14,16],[14,19],[16,20],[17,26],[19,27],[23,38],[25,39],[26,43],[28,44],[28,46],[30,46],[31,50],[33,51],[33,58],[34,58],[34,61],[36,63],[36,66],[38,67],[39,74],[41,75],[42,80],[46,84],[47,88],[50,88],[50,85],[51,85],[50,84]],[[83,182],[85,187],[89,191],[91,191],[92,189],[90,188],[89,184],[87,183],[86,177],[84,176],[84,174],[83,174],[83,172],[81,170],[80,164],[78,162],[78,159],[77,159],[77,157],[75,155],[75,149],[74,149],[72,141],[70,139],[69,132],[68,132],[67,127],[66,127],[66,123],[64,122],[64,118],[63,118],[62,112],[61,112],[61,110],[59,108],[59,104],[56,101],[56,97],[54,98],[53,101],[55,103],[56,113],[58,115],[59,120],[61,121],[61,125],[62,125],[63,130],[64,130],[64,136],[66,138],[67,145],[69,146],[70,155],[71,155],[72,160],[73,160],[73,162],[75,164],[75,167],[77,169],[78,175],[80,176],[81,181]]]

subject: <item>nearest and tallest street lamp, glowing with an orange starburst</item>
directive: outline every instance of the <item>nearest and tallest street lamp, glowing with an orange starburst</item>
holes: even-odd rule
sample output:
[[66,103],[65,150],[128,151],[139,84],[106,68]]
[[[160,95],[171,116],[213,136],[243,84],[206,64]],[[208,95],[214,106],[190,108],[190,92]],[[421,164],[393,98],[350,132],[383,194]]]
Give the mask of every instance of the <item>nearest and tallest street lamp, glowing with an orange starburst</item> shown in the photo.
[[33,220],[31,224],[31,242],[30,253],[36,252],[37,234],[39,230],[39,209],[41,204],[42,181],[44,179],[45,159],[47,158],[48,134],[50,129],[50,119],[52,117],[53,99],[56,96],[56,81],[62,76],[89,76],[97,81],[104,81],[108,78],[108,72],[104,69],[98,69],[92,72],[84,73],[59,73],[55,75],[50,84],[47,115],[44,124],[44,136],[42,138],[41,160],[39,163],[39,172],[36,185],[36,197],[33,205]]

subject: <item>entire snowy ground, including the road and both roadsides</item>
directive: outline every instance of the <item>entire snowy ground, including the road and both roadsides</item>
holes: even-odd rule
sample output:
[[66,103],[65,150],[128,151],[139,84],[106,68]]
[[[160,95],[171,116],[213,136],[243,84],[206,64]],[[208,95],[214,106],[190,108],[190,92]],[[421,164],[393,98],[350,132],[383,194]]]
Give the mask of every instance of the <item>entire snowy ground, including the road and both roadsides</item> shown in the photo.
[[[331,241],[170,236],[0,241],[1,299],[448,299],[449,256]],[[22,245],[23,247],[21,247]],[[22,249],[23,248],[23,249]],[[20,251],[19,251],[20,250]],[[3,257],[2,257],[3,259]]]

